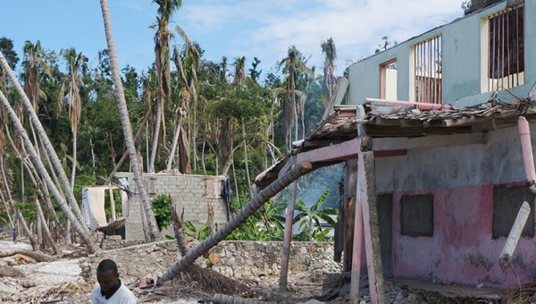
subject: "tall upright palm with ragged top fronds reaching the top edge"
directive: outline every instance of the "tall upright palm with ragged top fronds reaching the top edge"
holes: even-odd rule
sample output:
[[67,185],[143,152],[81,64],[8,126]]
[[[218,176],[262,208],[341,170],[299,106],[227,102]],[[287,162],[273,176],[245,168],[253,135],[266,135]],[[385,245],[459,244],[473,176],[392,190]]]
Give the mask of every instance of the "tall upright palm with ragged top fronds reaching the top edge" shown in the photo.
[[[156,28],[155,33],[155,69],[156,78],[158,80],[158,89],[156,91],[156,118],[155,118],[155,130],[153,137],[153,145],[151,149],[151,159],[149,160],[149,173],[155,173],[155,157],[158,153],[158,143],[161,139],[163,123],[163,104],[167,102],[171,96],[171,81],[170,81],[170,38],[172,38],[172,31],[168,26],[173,13],[179,9],[182,4],[182,0],[153,0],[158,4],[158,10],[156,13],[156,24],[151,28]],[[165,138],[165,133],[162,134],[162,139]]]

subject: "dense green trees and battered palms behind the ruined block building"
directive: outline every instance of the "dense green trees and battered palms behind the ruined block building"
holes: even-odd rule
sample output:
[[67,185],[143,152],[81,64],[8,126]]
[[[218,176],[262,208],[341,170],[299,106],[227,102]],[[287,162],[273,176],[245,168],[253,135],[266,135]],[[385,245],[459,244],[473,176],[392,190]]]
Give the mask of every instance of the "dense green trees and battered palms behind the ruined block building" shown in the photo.
[[[103,49],[98,60],[90,63],[80,50],[51,50],[40,41],[26,41],[19,55],[13,49],[13,40],[0,38],[0,51],[11,69],[21,61],[21,72],[15,77],[31,104],[31,110],[22,104],[15,83],[9,80],[6,69],[0,68],[0,92],[29,137],[29,141],[21,137],[14,116],[8,116],[2,107],[1,171],[9,168],[14,182],[4,182],[4,178],[0,182],[2,191],[9,193],[9,200],[3,198],[0,204],[0,222],[9,223],[7,215],[17,214],[15,220],[37,223],[42,205],[43,222],[54,222],[56,232],[66,232],[54,237],[71,239],[71,229],[64,229],[71,223],[84,238],[87,229],[80,225],[80,209],[71,212],[69,206],[78,204],[80,208],[81,188],[102,184],[99,177],[112,173],[127,152],[130,158],[138,156],[141,161],[138,169],[132,166],[134,172],[176,169],[180,173],[231,176],[231,209],[237,211],[253,195],[251,177],[277,162],[293,140],[304,138],[320,121],[335,83],[332,38],[322,41],[319,49],[326,56],[323,77],[315,78],[315,67],[308,65],[306,55],[297,46],[290,46],[274,69],[263,73],[258,69],[261,59],[257,57],[249,64],[244,56],[205,59],[202,46],[188,38],[179,25],[169,28],[172,14],[182,2],[154,2],[158,4],[152,25],[155,63],[142,71],[128,64],[119,71],[114,50]],[[111,30],[106,33],[111,38]],[[66,67],[64,71],[62,66]],[[122,82],[122,97],[114,94],[116,76]],[[43,134],[32,123],[32,112]],[[142,137],[135,141],[132,134],[138,130]],[[30,148],[36,158],[30,155]],[[49,148],[57,164],[47,153]],[[36,163],[38,158],[42,167]],[[117,170],[129,171],[130,164],[123,163]],[[336,177],[321,179],[320,187],[327,189],[333,186],[332,181],[339,181],[339,169],[334,172]],[[307,178],[304,183],[309,183]],[[152,229],[154,218],[157,229],[165,229],[171,223],[169,198],[155,198],[151,208],[144,193],[140,190],[146,214],[142,216],[144,227]],[[229,239],[281,240],[282,211],[286,207],[283,197],[266,204],[263,213],[255,213]],[[324,199],[334,206],[338,198]],[[105,211],[111,215],[110,206]],[[115,211],[121,213],[120,204]],[[206,237],[206,229],[185,225],[190,234]],[[146,239],[155,237],[151,231]]]

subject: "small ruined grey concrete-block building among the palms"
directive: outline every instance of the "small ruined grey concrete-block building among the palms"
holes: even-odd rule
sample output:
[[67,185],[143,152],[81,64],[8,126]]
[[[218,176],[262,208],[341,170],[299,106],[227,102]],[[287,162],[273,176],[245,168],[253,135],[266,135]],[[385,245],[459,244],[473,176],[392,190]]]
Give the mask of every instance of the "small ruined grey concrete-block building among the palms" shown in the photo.
[[[133,173],[115,173],[121,187],[136,193]],[[184,210],[184,220],[197,227],[205,224],[212,217],[214,224],[229,221],[230,186],[225,176],[208,176],[174,173],[144,173],[144,183],[150,199],[165,194],[172,198],[177,213]],[[123,188],[123,189],[124,189]],[[119,191],[121,215],[105,215],[105,193]],[[110,196],[109,196],[110,197]],[[113,207],[111,208],[113,210]],[[129,241],[144,240],[141,211],[137,195],[128,195],[118,187],[85,187],[82,190],[82,213],[91,230],[105,232],[106,235],[121,235]],[[163,229],[162,236],[174,235],[173,227]]]

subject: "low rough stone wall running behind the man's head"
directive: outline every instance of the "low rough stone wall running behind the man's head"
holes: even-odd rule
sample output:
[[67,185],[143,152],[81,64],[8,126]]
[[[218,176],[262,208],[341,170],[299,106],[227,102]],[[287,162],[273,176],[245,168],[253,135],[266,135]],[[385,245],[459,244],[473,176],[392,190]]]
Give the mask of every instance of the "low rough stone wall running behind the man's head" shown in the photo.
[[[189,245],[193,248],[197,241]],[[213,269],[234,278],[279,276],[281,246],[279,241],[222,241],[210,251],[220,256]],[[87,281],[96,282],[96,266],[105,258],[113,259],[119,267],[121,280],[130,283],[141,277],[162,275],[181,256],[175,241],[105,250],[80,258],[81,275]],[[340,266],[332,258],[331,242],[295,242],[290,249],[289,274],[307,270],[339,272]],[[198,258],[197,264],[205,267],[205,258]]]

